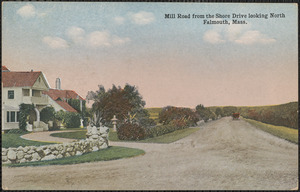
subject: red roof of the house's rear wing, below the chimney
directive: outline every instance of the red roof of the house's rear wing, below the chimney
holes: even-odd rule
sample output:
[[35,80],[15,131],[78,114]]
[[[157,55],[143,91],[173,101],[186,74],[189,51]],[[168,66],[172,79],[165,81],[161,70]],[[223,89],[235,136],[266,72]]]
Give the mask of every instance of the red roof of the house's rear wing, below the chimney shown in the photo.
[[54,101],[58,98],[64,99],[81,99],[84,100],[80,95],[78,95],[73,90],[60,90],[60,89],[49,89],[49,91],[44,91],[43,94],[49,95]]

